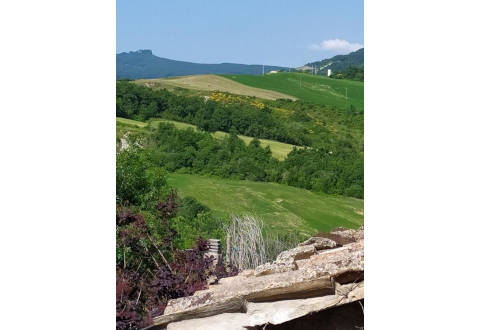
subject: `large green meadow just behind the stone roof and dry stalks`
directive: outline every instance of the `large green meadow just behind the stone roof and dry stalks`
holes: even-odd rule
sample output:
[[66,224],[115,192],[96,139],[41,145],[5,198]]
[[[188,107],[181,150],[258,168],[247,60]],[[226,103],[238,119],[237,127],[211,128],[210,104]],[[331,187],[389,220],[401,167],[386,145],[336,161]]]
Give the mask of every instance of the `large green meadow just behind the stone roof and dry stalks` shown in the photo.
[[217,215],[251,214],[268,230],[293,228],[305,234],[363,224],[363,200],[313,193],[276,183],[169,174],[168,183],[183,197],[196,198]]

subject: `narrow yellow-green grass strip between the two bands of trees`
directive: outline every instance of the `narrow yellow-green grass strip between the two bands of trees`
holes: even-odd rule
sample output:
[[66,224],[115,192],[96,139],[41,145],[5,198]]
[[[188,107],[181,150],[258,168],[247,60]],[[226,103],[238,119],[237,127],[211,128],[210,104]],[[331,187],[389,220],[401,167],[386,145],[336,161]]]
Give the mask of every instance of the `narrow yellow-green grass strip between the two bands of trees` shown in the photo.
[[[141,121],[136,121],[136,120],[117,117],[117,126],[122,127],[124,130],[125,129],[131,129],[131,130],[138,131],[138,128],[145,128],[148,125],[151,125],[152,127],[156,128],[156,127],[158,127],[158,124],[161,123],[161,122],[173,124],[178,129],[192,128],[194,130],[197,130],[197,127],[195,125],[182,123],[182,122],[178,122],[178,121],[174,121],[174,120],[168,120],[168,119],[152,119],[149,123],[144,123],[144,122],[141,122]],[[213,133],[212,135],[216,139],[220,140],[220,139],[223,139],[225,136],[227,136],[228,133],[217,131],[217,132]],[[240,139],[242,139],[243,141],[245,141],[246,144],[249,144],[250,141],[253,140],[253,138],[250,137],[250,136],[239,135],[238,137]],[[270,150],[272,152],[272,156],[279,159],[279,160],[284,160],[285,157],[287,157],[288,153],[290,151],[292,151],[292,149],[294,148],[293,144],[278,142],[278,141],[274,141],[274,140],[267,140],[267,139],[259,139],[259,140],[260,140],[260,145],[263,148],[269,146]]]

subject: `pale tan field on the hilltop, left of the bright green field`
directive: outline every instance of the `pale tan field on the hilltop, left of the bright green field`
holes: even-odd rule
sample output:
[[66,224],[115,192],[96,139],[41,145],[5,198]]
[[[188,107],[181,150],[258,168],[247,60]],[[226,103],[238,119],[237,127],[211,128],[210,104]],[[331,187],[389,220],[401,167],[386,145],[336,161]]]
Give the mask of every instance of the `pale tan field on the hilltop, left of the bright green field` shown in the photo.
[[176,78],[139,79],[137,83],[148,87],[161,87],[161,85],[181,87],[201,91],[221,91],[238,95],[255,96],[267,100],[291,99],[295,97],[267,89],[250,87],[217,75],[194,75]]

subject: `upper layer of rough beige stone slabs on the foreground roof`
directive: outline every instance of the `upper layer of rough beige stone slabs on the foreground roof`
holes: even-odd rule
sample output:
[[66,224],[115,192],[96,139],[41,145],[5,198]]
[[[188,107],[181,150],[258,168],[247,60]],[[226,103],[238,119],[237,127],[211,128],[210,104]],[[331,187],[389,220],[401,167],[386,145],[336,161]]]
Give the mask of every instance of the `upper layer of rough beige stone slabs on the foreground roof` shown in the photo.
[[[314,246],[310,245],[310,251],[311,249],[315,250]],[[310,253],[308,249],[301,251],[307,251],[306,255]],[[301,255],[297,252],[285,255]],[[246,302],[334,295],[334,280],[345,274],[355,274],[356,278],[359,278],[358,274],[363,274],[363,240],[339,248],[315,251],[309,258],[295,262],[297,270],[258,277],[235,276],[222,279],[218,285],[197,291],[193,296],[172,299],[168,302],[164,315],[154,319],[154,324],[167,325],[185,319],[227,312],[238,313],[244,311]],[[349,276],[344,276],[343,282],[349,280]]]

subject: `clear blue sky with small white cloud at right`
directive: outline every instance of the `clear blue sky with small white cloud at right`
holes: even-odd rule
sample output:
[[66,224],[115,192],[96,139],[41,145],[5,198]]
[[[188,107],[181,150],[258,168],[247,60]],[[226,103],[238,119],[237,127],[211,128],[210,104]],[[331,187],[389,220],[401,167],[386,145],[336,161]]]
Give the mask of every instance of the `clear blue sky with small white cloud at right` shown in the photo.
[[117,0],[117,53],[296,67],[363,46],[363,0]]

